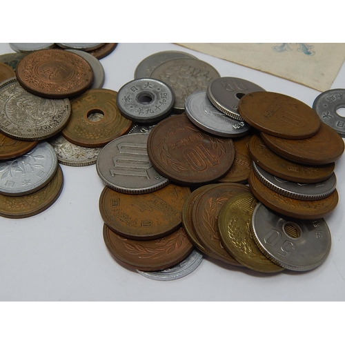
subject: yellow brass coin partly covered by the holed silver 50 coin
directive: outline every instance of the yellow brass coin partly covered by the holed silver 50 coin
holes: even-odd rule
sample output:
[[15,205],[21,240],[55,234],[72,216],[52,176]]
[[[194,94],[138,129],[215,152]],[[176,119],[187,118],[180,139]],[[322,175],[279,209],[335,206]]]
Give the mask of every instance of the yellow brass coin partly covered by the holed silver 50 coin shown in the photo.
[[221,243],[243,266],[262,273],[277,273],[284,268],[262,254],[250,234],[250,223],[258,201],[252,193],[230,197],[218,216]]

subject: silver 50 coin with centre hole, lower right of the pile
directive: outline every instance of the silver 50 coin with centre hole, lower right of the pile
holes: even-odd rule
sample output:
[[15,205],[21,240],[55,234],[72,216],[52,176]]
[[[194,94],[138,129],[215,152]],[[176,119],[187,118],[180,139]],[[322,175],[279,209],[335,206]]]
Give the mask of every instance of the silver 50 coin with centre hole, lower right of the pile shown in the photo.
[[262,253],[288,270],[312,270],[331,250],[331,232],[323,218],[289,218],[261,203],[255,207],[250,232]]

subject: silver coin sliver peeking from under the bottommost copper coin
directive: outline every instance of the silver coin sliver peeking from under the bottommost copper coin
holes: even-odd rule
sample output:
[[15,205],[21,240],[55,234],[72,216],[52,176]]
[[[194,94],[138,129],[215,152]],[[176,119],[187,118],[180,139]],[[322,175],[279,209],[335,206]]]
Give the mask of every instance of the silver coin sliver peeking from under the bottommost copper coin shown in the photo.
[[146,278],[160,280],[160,281],[168,281],[168,280],[176,280],[182,277],[186,277],[192,273],[198,266],[201,264],[203,259],[203,255],[199,252],[199,250],[193,250],[186,259],[184,259],[179,264],[172,266],[170,268],[166,268],[165,270],[155,270],[155,271],[144,271],[144,270],[137,270],[137,273],[143,275]]

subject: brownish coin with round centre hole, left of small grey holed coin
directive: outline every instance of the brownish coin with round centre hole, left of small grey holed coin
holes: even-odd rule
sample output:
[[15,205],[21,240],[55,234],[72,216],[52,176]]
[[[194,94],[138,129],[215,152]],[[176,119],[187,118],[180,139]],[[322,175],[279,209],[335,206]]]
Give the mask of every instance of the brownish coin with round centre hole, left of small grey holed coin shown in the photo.
[[128,132],[132,121],[121,115],[116,97],[116,91],[92,89],[73,99],[63,137],[75,145],[93,148]]

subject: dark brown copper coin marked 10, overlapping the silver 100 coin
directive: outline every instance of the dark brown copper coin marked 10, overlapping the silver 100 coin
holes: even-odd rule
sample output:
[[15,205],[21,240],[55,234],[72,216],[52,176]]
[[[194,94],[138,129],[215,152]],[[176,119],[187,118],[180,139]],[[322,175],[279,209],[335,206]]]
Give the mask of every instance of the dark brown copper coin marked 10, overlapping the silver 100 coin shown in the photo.
[[163,176],[179,184],[217,181],[230,170],[235,146],[200,130],[186,114],[168,117],[148,135],[148,157]]

